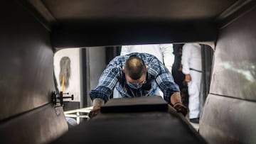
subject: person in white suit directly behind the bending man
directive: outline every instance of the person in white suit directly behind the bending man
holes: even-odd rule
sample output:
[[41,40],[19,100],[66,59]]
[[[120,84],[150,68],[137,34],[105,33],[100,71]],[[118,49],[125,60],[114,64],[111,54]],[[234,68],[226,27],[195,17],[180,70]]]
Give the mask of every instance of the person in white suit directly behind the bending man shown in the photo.
[[[143,52],[154,55],[167,67],[169,72],[171,72],[171,67],[174,63],[173,44],[122,45],[120,55],[127,55],[132,52]],[[160,89],[159,95],[164,96]],[[113,98],[119,98],[116,89],[114,89]]]

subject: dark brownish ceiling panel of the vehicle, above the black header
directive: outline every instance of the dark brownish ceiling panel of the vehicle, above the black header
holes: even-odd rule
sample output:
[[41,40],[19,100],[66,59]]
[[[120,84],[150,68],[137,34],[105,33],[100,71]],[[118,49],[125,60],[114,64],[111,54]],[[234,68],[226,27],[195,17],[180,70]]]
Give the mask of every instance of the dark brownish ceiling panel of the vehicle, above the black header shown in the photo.
[[30,0],[55,21],[90,19],[215,19],[238,0]]

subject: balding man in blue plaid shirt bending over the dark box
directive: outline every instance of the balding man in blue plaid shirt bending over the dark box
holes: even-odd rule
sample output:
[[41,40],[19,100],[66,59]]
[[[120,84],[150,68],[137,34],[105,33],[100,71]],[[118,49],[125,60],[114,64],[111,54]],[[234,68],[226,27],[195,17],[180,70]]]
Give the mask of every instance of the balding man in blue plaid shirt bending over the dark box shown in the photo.
[[110,99],[114,87],[121,97],[156,96],[161,89],[164,100],[186,116],[187,109],[181,102],[178,85],[154,55],[134,52],[115,57],[102,72],[97,87],[90,92],[91,116],[95,116],[100,106]]

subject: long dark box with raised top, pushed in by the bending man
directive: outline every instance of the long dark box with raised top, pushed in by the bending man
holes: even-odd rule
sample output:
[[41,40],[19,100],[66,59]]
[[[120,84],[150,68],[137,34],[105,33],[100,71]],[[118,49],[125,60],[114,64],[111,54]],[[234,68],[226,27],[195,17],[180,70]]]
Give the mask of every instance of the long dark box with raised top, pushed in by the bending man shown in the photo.
[[[152,99],[153,98],[153,99]],[[139,99],[137,101],[137,99]],[[144,101],[142,101],[144,100]],[[156,101],[154,101],[156,100]],[[117,102],[131,109],[142,105],[157,107],[164,104],[157,96],[132,99],[110,99],[108,106],[117,106]],[[206,143],[181,114],[168,106],[167,111],[144,111],[122,113],[100,113],[90,121],[81,123],[65,133],[53,143]],[[120,105],[116,107],[121,108]],[[110,109],[111,112],[112,109]],[[145,110],[145,109],[144,109]],[[117,112],[117,111],[116,111]]]

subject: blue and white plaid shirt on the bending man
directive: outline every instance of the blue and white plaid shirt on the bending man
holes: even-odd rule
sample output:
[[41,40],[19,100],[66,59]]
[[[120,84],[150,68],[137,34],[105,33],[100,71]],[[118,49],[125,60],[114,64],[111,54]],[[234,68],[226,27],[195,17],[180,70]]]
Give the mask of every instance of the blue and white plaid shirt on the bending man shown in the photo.
[[[126,83],[122,67],[131,55],[140,57],[145,65],[149,67],[146,75],[146,84],[140,89],[132,89]],[[105,102],[110,99],[114,87],[122,97],[134,96],[154,96],[157,87],[164,93],[164,99],[170,104],[171,94],[179,92],[178,85],[174,83],[169,70],[154,56],[147,53],[130,53],[114,57],[102,72],[99,83],[95,89],[90,92],[90,98],[103,99]]]

